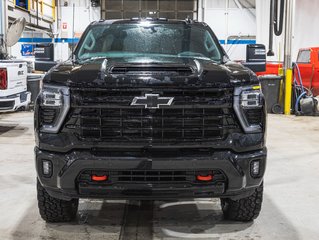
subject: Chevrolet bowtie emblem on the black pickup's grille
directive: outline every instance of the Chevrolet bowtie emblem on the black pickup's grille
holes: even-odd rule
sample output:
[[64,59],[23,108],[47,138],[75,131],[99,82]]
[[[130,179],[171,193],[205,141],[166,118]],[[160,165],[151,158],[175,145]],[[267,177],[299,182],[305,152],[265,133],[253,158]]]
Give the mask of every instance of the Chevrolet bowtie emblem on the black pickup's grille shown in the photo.
[[160,106],[170,106],[173,97],[160,97],[159,94],[145,94],[144,97],[135,97],[132,106],[144,106],[148,109],[158,109]]

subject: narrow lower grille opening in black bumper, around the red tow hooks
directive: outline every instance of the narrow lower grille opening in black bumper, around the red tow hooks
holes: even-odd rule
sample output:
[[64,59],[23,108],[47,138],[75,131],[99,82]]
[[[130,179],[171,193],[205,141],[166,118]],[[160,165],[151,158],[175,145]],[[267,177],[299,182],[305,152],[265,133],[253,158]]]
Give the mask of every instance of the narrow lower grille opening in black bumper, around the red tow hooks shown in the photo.
[[[187,170],[85,170],[79,174],[77,181],[80,183],[97,183],[91,180],[92,175],[107,175],[106,184],[114,183],[201,183],[196,180],[196,175],[202,171]],[[208,172],[205,170],[205,172]],[[210,170],[213,181],[207,183],[225,182],[225,175],[219,170]],[[207,184],[204,183],[204,184]]]

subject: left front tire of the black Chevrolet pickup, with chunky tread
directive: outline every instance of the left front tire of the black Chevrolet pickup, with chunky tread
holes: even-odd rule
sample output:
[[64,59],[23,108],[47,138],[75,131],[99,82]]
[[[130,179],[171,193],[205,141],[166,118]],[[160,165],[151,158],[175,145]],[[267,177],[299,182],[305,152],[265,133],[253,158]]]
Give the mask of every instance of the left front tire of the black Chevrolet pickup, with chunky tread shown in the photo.
[[37,180],[39,212],[46,222],[70,222],[76,217],[79,199],[65,201],[51,197]]

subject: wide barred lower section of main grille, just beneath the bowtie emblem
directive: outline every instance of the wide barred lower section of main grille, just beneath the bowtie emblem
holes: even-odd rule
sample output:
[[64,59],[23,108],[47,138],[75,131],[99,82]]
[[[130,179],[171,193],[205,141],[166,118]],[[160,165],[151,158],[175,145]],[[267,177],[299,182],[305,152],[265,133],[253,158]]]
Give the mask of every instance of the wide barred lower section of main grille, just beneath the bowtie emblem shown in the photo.
[[82,109],[83,138],[221,138],[219,109]]

